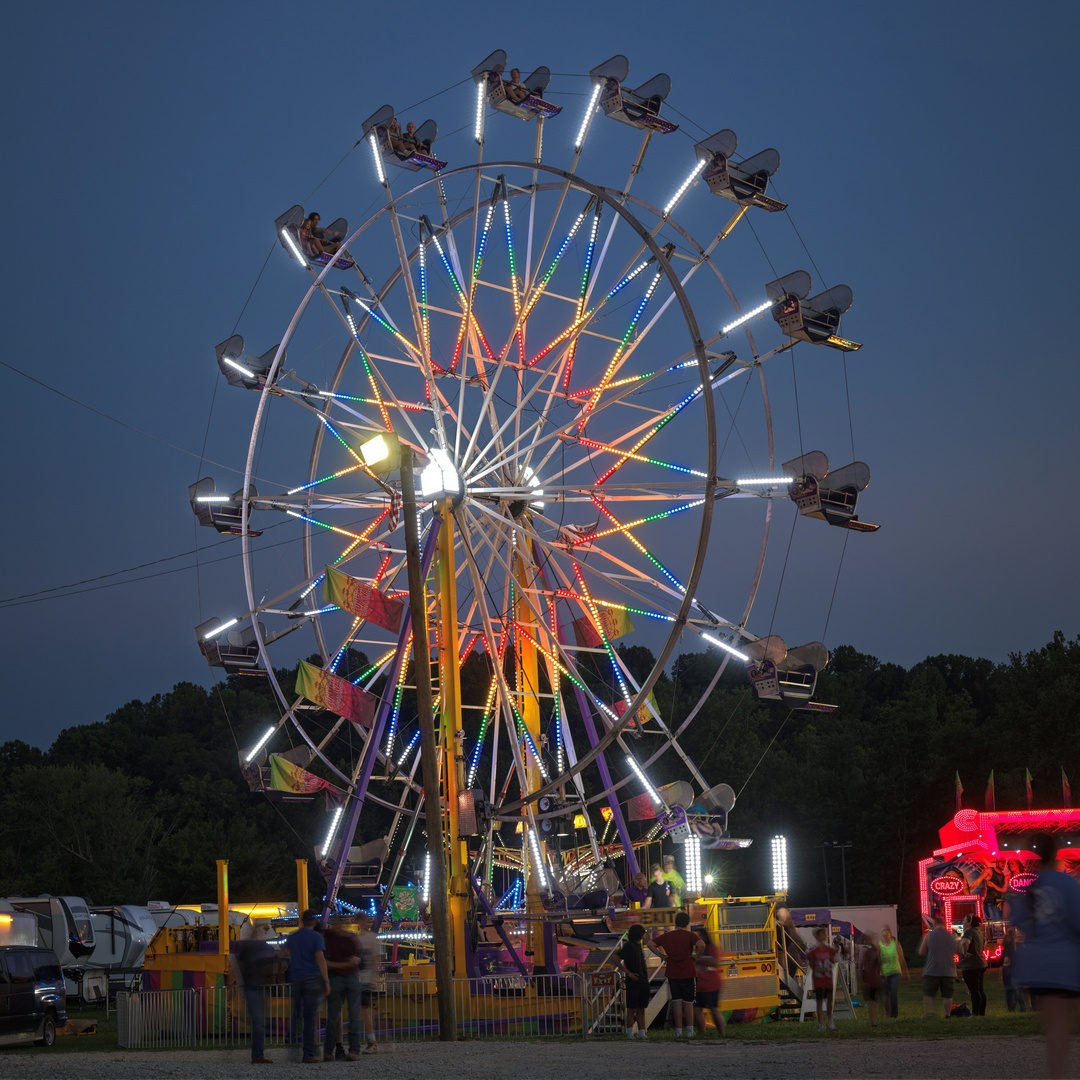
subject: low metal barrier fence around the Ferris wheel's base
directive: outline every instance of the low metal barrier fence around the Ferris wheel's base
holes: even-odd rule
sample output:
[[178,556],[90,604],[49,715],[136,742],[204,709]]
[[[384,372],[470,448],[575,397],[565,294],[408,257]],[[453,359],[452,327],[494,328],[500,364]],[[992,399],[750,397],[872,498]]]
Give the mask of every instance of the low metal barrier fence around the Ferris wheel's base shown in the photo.
[[[430,1039],[438,1035],[434,977],[413,969],[411,977],[380,982],[372,995],[379,1041]],[[621,1031],[622,980],[618,972],[567,975],[486,976],[454,980],[458,1036],[585,1038]],[[288,985],[260,991],[268,1048],[299,1048],[300,1022]],[[346,1013],[348,1010],[346,1010]],[[351,1017],[343,1016],[345,1040]],[[251,1044],[251,1016],[244,994],[232,986],[137,990],[117,995],[118,1041],[127,1049],[219,1049]],[[359,1020],[357,1020],[359,1023]],[[324,1041],[325,1004],[316,1016]]]

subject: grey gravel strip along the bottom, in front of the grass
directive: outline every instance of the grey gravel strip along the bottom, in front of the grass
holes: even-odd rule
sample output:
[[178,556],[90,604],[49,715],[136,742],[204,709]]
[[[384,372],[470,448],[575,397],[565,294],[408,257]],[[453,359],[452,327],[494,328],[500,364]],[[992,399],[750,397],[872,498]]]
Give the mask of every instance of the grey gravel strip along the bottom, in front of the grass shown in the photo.
[[[216,1080],[216,1078],[326,1076],[359,1070],[379,1080],[787,1080],[789,1077],[919,1077],[941,1080],[996,1080],[1045,1075],[1042,1040],[1011,1039],[861,1039],[727,1042],[699,1040],[675,1045],[624,1039],[591,1042],[406,1043],[380,1047],[380,1053],[355,1064],[340,1062],[301,1067],[294,1054],[270,1052],[278,1066],[253,1066],[246,1050],[178,1052],[127,1051],[0,1056],[0,1078],[56,1080]],[[1074,1044],[1072,1071],[1080,1077],[1080,1045]]]

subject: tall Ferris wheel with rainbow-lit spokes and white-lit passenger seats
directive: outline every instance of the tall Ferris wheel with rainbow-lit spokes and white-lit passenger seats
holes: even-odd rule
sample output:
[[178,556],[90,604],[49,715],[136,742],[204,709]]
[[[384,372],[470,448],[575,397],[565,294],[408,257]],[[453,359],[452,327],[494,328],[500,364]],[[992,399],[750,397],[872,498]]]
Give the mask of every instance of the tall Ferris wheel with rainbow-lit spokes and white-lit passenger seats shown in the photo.
[[[626,804],[643,796],[678,842],[738,842],[730,788],[679,744],[698,708],[664,715],[652,694],[678,648],[715,654],[706,697],[734,660],[760,697],[828,707],[812,701],[824,646],[756,635],[752,613],[778,498],[876,528],[855,513],[861,462],[831,472],[810,451],[778,464],[767,383],[797,341],[859,348],[839,336],[851,293],[812,296],[796,270],[738,297],[723,245],[747,214],[785,208],[768,194],[780,157],[740,157],[729,130],[692,153],[669,147],[671,80],[631,89],[627,76],[622,56],[594,68],[571,116],[546,68],[522,78],[492,53],[458,103],[472,144],[453,153],[434,121],[376,110],[357,147],[377,207],[359,225],[322,226],[300,206],[279,217],[306,271],[295,312],[258,355],[239,335],[217,347],[230,384],[258,395],[244,477],[231,495],[204,478],[190,498],[202,524],[240,538],[244,602],[197,634],[213,666],[265,676],[281,703],[242,752],[253,787],[338,796],[316,848],[332,897],[393,883],[421,801],[402,448],[416,462],[421,632],[462,864],[478,853],[490,874],[500,828],[521,821],[534,890],[595,885],[612,827],[636,870]],[[586,175],[590,134],[609,122],[623,159]],[[500,153],[523,123],[531,153]],[[635,190],[657,158],[662,200]],[[679,222],[691,197],[715,204],[707,235]],[[635,640],[651,670],[620,650]],[[320,662],[279,677],[274,664],[306,650]],[[482,672],[482,700],[462,697],[467,671]],[[685,780],[658,788],[649,770],[669,752]],[[393,824],[356,847],[365,802]],[[584,856],[556,839],[571,815]]]

